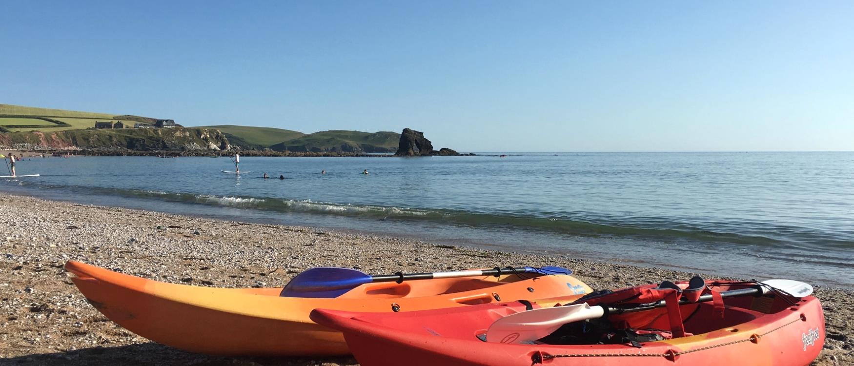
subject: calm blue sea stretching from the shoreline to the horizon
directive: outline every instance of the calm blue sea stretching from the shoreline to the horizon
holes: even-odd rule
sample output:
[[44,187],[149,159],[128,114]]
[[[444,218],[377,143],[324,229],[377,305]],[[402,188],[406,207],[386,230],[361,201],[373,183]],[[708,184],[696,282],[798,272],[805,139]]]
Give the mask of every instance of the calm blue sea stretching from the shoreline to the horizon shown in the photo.
[[0,189],[854,286],[854,153],[243,158],[251,173],[220,172],[233,167],[227,158],[32,159],[19,174],[42,177],[0,179]]

